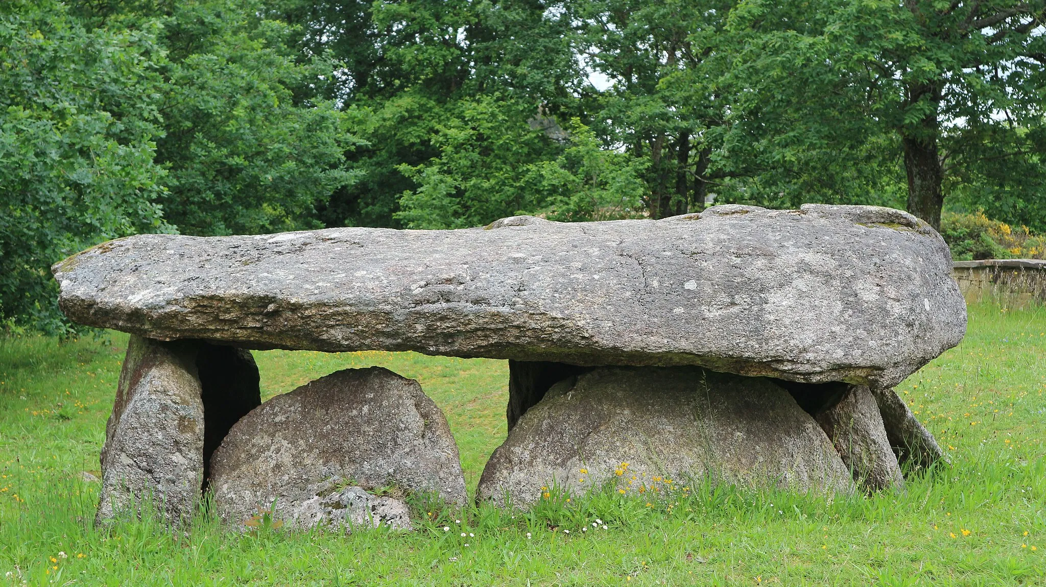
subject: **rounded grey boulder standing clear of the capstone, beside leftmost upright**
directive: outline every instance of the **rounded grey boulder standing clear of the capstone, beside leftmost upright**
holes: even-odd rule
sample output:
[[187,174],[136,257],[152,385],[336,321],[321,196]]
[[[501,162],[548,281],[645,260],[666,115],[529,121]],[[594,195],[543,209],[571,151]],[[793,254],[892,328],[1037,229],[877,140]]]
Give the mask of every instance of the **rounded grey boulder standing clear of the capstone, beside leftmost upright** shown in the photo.
[[378,367],[333,373],[245,416],[214,452],[210,489],[231,524],[275,502],[273,515],[301,529],[368,515],[409,527],[406,506],[379,492],[465,500],[442,412],[417,381]]

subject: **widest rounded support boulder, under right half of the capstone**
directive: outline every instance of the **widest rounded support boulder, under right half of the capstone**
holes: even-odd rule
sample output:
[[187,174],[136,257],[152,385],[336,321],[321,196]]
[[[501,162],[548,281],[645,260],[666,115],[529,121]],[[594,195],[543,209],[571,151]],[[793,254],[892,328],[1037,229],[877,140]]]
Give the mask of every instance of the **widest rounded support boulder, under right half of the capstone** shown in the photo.
[[798,491],[854,489],[821,427],[770,379],[601,368],[552,385],[520,418],[487,462],[478,496],[504,503],[507,495],[526,507],[553,483],[575,494],[608,480],[631,492],[665,491],[665,477],[678,486],[706,476]]

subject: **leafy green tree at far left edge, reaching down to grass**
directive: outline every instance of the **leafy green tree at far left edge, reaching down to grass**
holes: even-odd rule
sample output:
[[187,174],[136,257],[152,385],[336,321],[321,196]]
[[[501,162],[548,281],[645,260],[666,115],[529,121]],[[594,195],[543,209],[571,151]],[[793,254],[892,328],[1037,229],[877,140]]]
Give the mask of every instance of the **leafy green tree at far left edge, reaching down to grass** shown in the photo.
[[167,231],[156,28],[85,29],[52,0],[0,4],[0,320],[63,332],[49,267]]

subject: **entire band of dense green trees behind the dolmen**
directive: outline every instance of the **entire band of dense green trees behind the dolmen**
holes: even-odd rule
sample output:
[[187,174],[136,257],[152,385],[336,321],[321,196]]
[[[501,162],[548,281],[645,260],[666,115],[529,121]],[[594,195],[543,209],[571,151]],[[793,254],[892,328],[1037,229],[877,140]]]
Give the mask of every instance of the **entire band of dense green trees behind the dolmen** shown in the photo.
[[1043,231],[1044,19],[1046,0],[8,0],[0,320],[62,330],[47,267],[147,231],[712,199]]

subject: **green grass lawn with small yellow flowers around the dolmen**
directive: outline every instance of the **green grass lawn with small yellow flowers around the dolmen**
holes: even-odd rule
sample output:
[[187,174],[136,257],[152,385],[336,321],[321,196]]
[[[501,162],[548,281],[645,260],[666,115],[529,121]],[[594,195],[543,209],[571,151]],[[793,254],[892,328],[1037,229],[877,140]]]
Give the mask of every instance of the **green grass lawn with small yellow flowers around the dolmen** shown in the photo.
[[[656,500],[604,493],[570,503],[553,499],[529,515],[490,507],[434,510],[437,519],[413,533],[351,536],[238,535],[203,517],[188,534],[167,532],[151,520],[94,530],[98,486],[82,473],[98,468],[123,344],[119,335],[107,344],[0,342],[0,580],[16,585],[1046,584],[1043,308],[972,307],[962,345],[899,388],[952,457],[951,466],[911,479],[904,494],[828,501],[723,487],[697,487]],[[345,367],[381,365],[418,379],[448,416],[471,489],[505,435],[503,361],[379,352],[255,356],[266,397]],[[596,517],[608,530],[587,525]],[[452,530],[444,532],[444,524]],[[581,532],[583,526],[589,531]],[[461,532],[475,536],[461,538]]]

